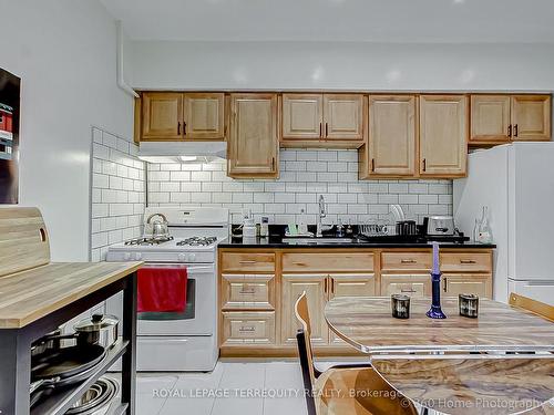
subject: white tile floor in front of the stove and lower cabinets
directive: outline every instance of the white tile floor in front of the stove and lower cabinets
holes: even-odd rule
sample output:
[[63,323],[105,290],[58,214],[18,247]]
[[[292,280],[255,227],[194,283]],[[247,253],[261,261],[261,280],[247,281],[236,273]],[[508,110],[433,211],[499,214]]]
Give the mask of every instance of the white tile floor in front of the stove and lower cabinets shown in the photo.
[[136,415],[304,415],[302,392],[296,360],[224,360],[211,373],[140,373]]

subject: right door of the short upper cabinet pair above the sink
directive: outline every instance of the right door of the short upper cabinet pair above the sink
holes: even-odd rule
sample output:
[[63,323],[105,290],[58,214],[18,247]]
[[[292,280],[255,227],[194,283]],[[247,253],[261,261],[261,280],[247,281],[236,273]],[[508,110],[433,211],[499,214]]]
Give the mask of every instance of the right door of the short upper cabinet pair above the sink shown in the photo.
[[326,139],[363,139],[363,98],[361,94],[324,95]]

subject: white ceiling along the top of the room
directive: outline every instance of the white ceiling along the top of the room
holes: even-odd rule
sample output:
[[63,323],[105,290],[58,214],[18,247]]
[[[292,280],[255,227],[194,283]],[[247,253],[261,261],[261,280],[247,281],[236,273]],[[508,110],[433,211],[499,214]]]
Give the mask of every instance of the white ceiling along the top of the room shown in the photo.
[[554,43],[554,0],[100,0],[135,40]]

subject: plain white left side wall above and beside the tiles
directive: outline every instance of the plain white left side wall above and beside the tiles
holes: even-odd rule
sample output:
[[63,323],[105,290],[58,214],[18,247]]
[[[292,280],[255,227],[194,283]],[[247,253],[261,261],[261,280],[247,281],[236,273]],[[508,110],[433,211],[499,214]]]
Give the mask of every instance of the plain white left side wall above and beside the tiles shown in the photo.
[[91,126],[133,136],[115,23],[94,0],[0,0],[0,66],[22,79],[20,205],[42,210],[53,260],[86,260]]

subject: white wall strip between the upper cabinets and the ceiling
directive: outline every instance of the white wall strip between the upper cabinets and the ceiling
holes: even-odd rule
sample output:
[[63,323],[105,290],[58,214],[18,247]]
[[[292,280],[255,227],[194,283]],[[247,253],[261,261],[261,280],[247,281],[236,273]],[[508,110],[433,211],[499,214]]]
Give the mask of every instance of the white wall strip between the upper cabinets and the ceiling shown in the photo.
[[136,89],[553,91],[554,44],[130,42]]

